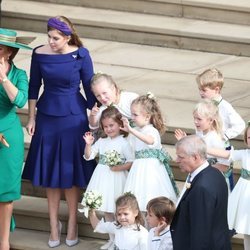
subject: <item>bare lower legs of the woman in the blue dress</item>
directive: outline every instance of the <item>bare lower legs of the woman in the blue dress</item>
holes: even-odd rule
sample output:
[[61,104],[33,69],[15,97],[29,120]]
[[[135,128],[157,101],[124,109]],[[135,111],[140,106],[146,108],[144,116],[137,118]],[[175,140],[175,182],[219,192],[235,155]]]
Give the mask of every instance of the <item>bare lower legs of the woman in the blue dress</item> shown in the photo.
[[[50,240],[58,239],[58,217],[59,217],[59,205],[61,199],[61,190],[59,188],[47,188],[47,198],[48,198],[48,209],[50,218]],[[64,189],[65,198],[68,205],[69,220],[68,220],[68,231],[67,239],[74,240],[77,238],[77,208],[78,208],[78,198],[79,198],[79,188],[72,187],[69,189]]]

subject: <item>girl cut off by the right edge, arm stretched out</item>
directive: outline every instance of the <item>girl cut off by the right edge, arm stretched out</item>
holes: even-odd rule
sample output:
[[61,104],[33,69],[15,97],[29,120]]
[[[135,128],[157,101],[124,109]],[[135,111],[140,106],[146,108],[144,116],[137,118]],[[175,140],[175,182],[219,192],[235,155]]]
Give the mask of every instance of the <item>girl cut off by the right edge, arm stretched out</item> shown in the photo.
[[250,121],[245,129],[244,141],[248,149],[220,150],[208,148],[208,153],[232,161],[241,161],[241,176],[228,200],[228,225],[244,234],[244,249],[250,250]]

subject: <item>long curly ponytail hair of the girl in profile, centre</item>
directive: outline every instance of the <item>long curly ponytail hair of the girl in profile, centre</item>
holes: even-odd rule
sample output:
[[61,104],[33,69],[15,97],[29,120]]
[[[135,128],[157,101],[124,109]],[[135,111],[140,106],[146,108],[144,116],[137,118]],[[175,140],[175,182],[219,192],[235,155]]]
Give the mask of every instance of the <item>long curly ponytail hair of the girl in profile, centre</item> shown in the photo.
[[140,107],[150,115],[150,123],[161,134],[165,132],[166,126],[163,121],[160,106],[151,93],[137,97],[131,105],[140,105]]

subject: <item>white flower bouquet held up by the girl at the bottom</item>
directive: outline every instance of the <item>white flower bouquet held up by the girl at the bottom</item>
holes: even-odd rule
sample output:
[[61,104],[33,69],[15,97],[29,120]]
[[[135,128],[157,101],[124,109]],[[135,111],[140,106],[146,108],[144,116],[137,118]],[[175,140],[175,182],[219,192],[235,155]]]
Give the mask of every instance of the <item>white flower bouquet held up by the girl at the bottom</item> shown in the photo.
[[79,212],[84,213],[88,218],[90,209],[98,209],[102,205],[102,196],[97,191],[87,191],[83,194],[81,202],[83,208],[78,209]]

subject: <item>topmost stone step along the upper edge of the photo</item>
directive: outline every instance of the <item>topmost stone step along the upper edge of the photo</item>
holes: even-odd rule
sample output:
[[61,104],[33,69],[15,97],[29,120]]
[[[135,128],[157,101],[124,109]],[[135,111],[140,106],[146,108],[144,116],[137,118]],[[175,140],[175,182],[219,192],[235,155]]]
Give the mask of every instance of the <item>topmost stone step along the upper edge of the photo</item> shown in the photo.
[[33,0],[88,8],[250,24],[248,1],[215,0]]

